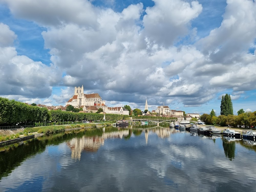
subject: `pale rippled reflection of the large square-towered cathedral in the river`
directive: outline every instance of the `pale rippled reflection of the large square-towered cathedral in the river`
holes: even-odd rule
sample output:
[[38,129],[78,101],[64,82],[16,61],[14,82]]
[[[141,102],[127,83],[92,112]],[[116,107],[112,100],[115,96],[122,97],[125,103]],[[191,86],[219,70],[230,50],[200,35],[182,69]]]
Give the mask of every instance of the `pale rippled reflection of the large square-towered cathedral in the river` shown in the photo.
[[95,135],[91,137],[82,136],[81,138],[75,137],[67,142],[68,147],[71,149],[71,158],[80,159],[82,151],[97,152],[101,145],[104,145],[104,140],[107,138],[114,139],[129,135],[129,130],[120,130],[105,133],[101,136]]

